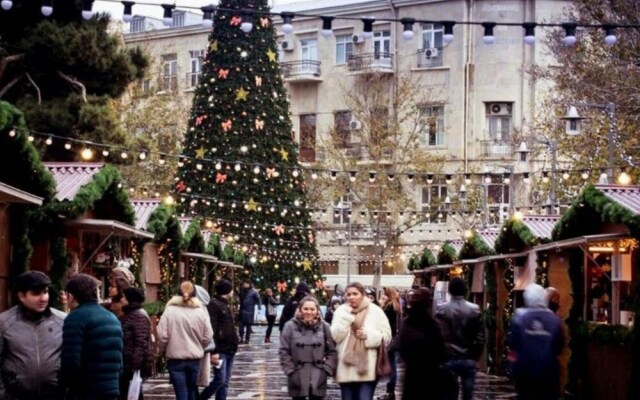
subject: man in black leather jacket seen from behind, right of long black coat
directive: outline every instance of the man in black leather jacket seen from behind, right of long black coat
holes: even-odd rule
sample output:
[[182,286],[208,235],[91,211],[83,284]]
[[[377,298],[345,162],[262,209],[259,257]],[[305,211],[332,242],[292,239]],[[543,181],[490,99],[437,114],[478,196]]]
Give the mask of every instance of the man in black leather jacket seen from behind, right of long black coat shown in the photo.
[[[451,300],[438,310],[442,335],[449,361],[445,367],[462,381],[462,400],[472,400],[476,379],[476,362],[484,347],[484,325],[480,307],[464,299],[467,285],[461,278],[449,282]],[[457,379],[456,379],[457,380]],[[455,396],[458,398],[458,385]]]

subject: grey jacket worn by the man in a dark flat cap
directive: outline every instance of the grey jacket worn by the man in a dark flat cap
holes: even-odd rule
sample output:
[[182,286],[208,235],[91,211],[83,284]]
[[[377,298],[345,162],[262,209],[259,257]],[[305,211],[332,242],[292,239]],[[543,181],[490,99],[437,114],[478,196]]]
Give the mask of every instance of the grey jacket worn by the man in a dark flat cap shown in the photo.
[[39,398],[59,386],[62,325],[67,315],[47,309],[38,321],[27,319],[22,306],[0,314],[0,399],[13,394]]

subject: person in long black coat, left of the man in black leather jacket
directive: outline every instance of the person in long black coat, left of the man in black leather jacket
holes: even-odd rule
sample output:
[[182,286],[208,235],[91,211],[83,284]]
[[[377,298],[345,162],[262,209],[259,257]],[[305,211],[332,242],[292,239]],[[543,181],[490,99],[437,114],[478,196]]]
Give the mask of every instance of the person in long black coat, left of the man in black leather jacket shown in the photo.
[[432,315],[431,291],[415,289],[407,300],[407,317],[398,340],[398,350],[405,361],[402,400],[423,400],[425,388],[429,388],[429,399],[446,399],[453,377],[441,368],[447,349]]

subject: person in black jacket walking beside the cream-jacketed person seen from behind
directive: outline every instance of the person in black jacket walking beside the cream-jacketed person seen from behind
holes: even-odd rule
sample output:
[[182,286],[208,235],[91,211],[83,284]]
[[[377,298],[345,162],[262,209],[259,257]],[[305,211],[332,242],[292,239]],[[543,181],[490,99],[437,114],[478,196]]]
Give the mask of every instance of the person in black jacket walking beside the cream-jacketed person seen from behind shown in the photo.
[[208,400],[216,395],[216,400],[226,400],[233,369],[233,359],[238,351],[238,333],[233,321],[233,312],[229,298],[233,295],[233,285],[226,279],[220,279],[215,285],[216,297],[209,303],[207,310],[213,328],[213,341],[216,348],[211,354],[211,363],[215,366],[213,380],[200,394],[200,400]]

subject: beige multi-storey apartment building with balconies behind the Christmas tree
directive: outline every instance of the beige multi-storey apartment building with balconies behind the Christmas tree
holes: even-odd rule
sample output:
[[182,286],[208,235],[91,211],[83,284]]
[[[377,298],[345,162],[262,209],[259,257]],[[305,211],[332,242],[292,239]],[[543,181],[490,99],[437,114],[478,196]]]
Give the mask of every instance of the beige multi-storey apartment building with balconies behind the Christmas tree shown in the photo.
[[[469,227],[496,229],[516,207],[530,204],[530,187],[523,172],[536,166],[518,162],[517,150],[522,137],[535,134],[531,127],[548,90],[527,74],[531,66],[551,62],[540,40],[546,33],[538,29],[538,40],[529,45],[524,43],[522,26],[496,26],[493,43],[486,44],[482,26],[456,24],[450,40],[446,23],[433,22],[414,24],[413,39],[404,40],[404,26],[386,20],[559,22],[569,5],[569,1],[558,0],[325,0],[273,9],[277,14],[294,14],[289,34],[282,33],[280,16],[274,17],[274,23],[303,165],[323,161],[322,149],[316,144],[327,135],[326,127],[359,129],[360,121],[351,116],[340,95],[350,76],[410,71],[435,100],[420,109],[429,121],[424,124],[421,151],[443,157],[443,172],[472,173],[466,183],[480,185],[484,194],[481,216],[472,212],[459,218],[444,215],[427,220],[404,232],[401,248],[390,251],[393,256],[384,260],[375,256],[375,232],[357,223],[357,206],[348,196],[335,199],[333,210],[320,217],[323,229],[318,234],[328,282],[343,282],[347,274],[368,276],[373,263],[383,261],[383,284],[404,286],[407,280],[402,275],[411,252],[460,239]],[[336,17],[329,37],[322,34],[323,21],[318,15]],[[363,35],[360,18],[364,16],[375,19],[370,39]],[[177,26],[166,28],[135,17],[124,36],[127,45],[144,44],[162,64],[160,86],[153,90],[190,96],[207,48],[208,30],[194,15],[179,18]],[[366,157],[366,151],[345,147],[352,157]],[[439,175],[433,182],[412,185],[411,190],[416,210],[461,195],[460,186],[454,187]],[[470,219],[475,219],[473,224],[468,223]]]

